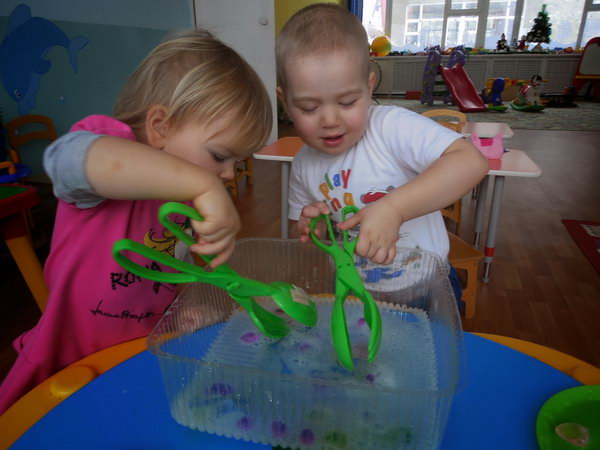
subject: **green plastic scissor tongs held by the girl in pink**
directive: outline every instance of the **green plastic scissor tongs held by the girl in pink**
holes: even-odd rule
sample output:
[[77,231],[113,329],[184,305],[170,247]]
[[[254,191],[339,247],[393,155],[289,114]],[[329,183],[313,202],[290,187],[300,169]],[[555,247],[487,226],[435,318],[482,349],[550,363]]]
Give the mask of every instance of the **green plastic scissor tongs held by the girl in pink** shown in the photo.
[[[195,239],[169,219],[170,214],[181,214],[192,220],[202,221],[202,216],[194,208],[181,203],[163,204],[159,211],[159,221],[182,242],[192,245]],[[123,252],[130,251],[171,267],[178,272],[159,272],[141,266]],[[227,264],[221,264],[212,271],[173,258],[166,253],[153,250],[131,239],[120,239],[113,245],[113,257],[126,270],[153,281],[163,283],[208,283],[227,291],[229,296],[239,303],[247,312],[256,327],[265,335],[281,338],[288,334],[285,320],[263,308],[253,297],[271,297],[271,299],[291,318],[312,327],[317,323],[317,307],[302,289],[284,282],[270,284],[245,278],[235,272]],[[210,263],[214,256],[202,256]]]

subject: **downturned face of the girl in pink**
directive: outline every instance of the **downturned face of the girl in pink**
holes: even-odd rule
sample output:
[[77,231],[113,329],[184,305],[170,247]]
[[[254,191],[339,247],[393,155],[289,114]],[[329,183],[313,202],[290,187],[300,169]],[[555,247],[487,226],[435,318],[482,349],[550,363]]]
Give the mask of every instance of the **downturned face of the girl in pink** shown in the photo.
[[234,147],[236,127],[224,116],[208,125],[190,121],[178,129],[169,129],[163,151],[206,169],[223,180],[235,175],[236,161],[251,152]]

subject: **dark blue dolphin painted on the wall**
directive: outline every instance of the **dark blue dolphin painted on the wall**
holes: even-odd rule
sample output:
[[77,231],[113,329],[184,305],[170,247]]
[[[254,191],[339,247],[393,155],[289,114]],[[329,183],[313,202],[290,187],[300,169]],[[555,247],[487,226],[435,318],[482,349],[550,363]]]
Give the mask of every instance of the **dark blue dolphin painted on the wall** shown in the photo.
[[46,59],[48,50],[64,47],[69,52],[73,73],[77,73],[77,51],[88,42],[83,36],[69,39],[49,20],[31,17],[27,5],[18,5],[13,10],[0,45],[0,79],[8,95],[18,103],[20,115],[35,107],[40,77],[52,65]]

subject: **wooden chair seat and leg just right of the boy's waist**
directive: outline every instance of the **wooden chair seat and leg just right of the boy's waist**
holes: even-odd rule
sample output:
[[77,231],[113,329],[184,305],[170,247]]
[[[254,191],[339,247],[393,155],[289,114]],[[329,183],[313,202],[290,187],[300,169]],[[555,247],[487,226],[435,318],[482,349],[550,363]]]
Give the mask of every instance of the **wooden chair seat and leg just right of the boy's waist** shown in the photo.
[[[460,203],[461,200],[457,200],[452,206],[456,208],[456,205],[460,205]],[[450,220],[454,220],[454,213],[449,212],[448,208],[442,209],[442,215]],[[458,220],[460,220],[460,213]],[[479,282],[479,261],[483,259],[484,255],[481,251],[450,231],[448,231],[448,239],[450,240],[448,260],[457,271],[464,272],[462,299],[465,302],[465,317],[470,319],[475,316],[477,286]]]

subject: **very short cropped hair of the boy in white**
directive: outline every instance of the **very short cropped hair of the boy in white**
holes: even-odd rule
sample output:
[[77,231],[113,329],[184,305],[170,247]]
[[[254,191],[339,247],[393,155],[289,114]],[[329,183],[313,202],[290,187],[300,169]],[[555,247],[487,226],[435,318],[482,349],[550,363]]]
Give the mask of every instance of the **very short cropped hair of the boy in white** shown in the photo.
[[362,23],[348,9],[334,3],[315,3],[296,14],[284,25],[277,38],[277,75],[282,88],[286,84],[289,62],[312,55],[339,50],[357,52],[357,63],[369,76],[369,38]]

